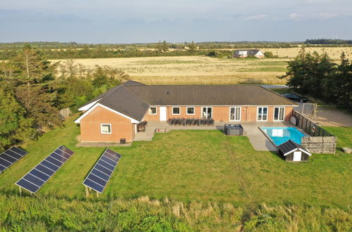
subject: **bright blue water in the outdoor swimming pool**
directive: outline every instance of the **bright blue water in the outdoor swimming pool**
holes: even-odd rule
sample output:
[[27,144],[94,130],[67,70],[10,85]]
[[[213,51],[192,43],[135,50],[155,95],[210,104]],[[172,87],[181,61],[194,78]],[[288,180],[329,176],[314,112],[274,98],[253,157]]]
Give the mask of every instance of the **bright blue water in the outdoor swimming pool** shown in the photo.
[[262,127],[262,130],[267,136],[272,138],[272,141],[274,141],[277,146],[289,141],[289,139],[301,144],[301,138],[305,136],[301,131],[298,131],[298,129],[294,127]]

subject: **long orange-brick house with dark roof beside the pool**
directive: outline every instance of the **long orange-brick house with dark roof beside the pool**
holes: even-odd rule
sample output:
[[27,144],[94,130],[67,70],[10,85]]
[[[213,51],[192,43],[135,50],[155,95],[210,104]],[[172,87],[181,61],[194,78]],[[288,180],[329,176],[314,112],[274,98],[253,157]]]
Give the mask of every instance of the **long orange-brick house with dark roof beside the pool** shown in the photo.
[[215,122],[289,121],[296,103],[259,85],[146,85],[128,81],[83,105],[81,141],[133,141],[142,121],[174,117]]

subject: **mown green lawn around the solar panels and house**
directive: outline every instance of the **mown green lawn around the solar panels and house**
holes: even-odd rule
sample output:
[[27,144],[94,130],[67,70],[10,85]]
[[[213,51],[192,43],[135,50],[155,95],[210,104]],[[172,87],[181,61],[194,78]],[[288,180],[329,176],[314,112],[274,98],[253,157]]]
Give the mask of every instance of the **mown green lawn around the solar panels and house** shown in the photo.
[[[338,146],[352,143],[352,129],[328,127]],[[259,133],[259,131],[258,131]],[[104,148],[77,148],[79,127],[72,122],[25,146],[29,154],[0,174],[0,191],[17,191],[16,181],[63,144],[75,151],[71,160],[37,193],[83,198],[83,179]],[[276,153],[253,150],[245,136],[221,131],[175,130],[153,141],[114,147],[123,158],[101,198],[150,198],[226,201],[236,205],[259,202],[307,202],[351,205],[351,155],[312,155],[309,162],[285,162]]]

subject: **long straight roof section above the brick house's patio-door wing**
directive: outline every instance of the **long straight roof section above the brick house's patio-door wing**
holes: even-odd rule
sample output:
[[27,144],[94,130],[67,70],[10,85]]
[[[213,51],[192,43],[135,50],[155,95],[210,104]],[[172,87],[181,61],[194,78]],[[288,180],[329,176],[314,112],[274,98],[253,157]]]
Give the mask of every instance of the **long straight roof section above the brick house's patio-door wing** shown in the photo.
[[296,105],[259,85],[126,86],[150,105]]

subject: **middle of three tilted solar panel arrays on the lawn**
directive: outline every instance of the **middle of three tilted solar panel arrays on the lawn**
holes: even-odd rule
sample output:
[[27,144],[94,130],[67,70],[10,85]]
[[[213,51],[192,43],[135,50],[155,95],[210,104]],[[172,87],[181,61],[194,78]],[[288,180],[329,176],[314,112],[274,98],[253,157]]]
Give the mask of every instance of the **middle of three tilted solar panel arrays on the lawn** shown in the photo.
[[31,193],[37,191],[47,182],[52,175],[73,155],[73,151],[65,146],[59,146],[48,155],[39,165],[25,174],[16,185]]

